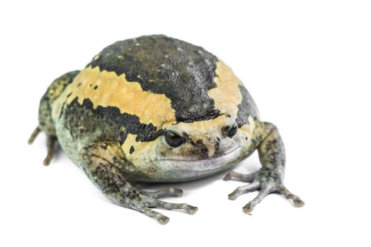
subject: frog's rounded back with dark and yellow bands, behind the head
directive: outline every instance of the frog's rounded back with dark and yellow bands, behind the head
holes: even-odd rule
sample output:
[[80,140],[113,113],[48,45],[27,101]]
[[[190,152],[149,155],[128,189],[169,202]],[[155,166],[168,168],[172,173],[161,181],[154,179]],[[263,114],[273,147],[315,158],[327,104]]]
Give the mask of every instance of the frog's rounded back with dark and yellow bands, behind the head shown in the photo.
[[79,147],[97,140],[122,144],[128,133],[150,141],[162,135],[164,123],[221,114],[235,115],[241,126],[258,112],[249,92],[216,56],[164,35],[106,47],[52,107],[62,146],[79,140]]

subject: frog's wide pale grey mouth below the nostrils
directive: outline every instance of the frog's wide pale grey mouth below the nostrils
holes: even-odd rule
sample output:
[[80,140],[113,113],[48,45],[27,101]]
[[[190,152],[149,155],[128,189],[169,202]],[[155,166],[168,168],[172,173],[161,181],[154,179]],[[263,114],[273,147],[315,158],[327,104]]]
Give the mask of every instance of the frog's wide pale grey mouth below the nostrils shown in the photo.
[[202,158],[202,159],[160,159],[161,162],[165,163],[163,169],[179,169],[179,170],[193,170],[193,171],[207,171],[218,169],[224,164],[232,163],[234,160],[238,159],[241,152],[241,146],[236,146],[227,150],[221,155]]

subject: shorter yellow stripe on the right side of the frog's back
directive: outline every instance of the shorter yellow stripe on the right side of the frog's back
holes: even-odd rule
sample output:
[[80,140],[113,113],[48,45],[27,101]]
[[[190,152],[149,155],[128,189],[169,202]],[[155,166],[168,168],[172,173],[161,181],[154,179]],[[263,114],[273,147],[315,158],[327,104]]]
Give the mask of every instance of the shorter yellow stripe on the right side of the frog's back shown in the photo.
[[242,85],[232,69],[222,61],[217,61],[217,69],[215,70],[217,77],[214,78],[216,88],[212,88],[207,92],[215,104],[215,108],[219,109],[223,114],[230,114],[234,118],[237,117],[238,105],[242,101],[242,95],[239,91],[239,85]]

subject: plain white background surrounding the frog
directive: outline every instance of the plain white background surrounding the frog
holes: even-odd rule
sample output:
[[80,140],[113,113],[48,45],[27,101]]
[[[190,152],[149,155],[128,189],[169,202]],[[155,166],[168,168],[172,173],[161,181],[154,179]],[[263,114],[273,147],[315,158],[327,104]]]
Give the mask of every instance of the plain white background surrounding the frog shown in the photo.
[[[371,8],[368,1],[1,1],[0,246],[370,246]],[[165,34],[219,56],[275,123],[285,184],[245,215],[223,174],[181,183],[195,215],[160,225],[110,203],[45,135],[28,146],[52,80],[103,47]],[[253,155],[237,171],[260,167]],[[149,190],[161,186],[149,186]],[[163,187],[163,186],[162,186]],[[368,235],[368,236],[367,236]]]

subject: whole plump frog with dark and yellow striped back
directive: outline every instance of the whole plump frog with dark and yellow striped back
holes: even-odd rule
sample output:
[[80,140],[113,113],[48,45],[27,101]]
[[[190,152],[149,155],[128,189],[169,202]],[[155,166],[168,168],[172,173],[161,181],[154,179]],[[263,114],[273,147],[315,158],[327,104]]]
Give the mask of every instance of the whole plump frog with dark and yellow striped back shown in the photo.
[[[258,191],[244,205],[250,214],[269,193],[296,207],[304,202],[283,184],[285,147],[278,128],[261,121],[249,91],[229,66],[202,47],[165,35],[110,44],[81,71],[65,73],[40,100],[38,126],[47,136],[50,164],[59,144],[74,164],[113,203],[161,224],[169,217],[154,208],[198,207],[169,203],[181,188],[146,191],[140,183],[181,183],[227,172],[245,182],[228,195]],[[232,171],[258,151],[261,168]]]

